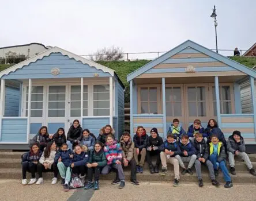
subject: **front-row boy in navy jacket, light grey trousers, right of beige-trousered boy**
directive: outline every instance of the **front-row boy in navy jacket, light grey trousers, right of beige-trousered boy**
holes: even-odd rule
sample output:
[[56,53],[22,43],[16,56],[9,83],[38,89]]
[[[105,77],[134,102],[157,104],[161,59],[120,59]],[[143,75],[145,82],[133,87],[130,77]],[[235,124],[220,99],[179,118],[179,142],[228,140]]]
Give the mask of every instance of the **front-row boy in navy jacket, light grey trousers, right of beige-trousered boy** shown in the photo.
[[[190,175],[193,175],[192,167],[197,159],[195,155],[196,150],[194,146],[189,141],[189,136],[184,135],[180,139],[179,147],[181,150],[180,155],[176,155],[175,158],[178,159],[180,167],[182,167],[182,175],[185,175],[186,172]],[[184,163],[189,163],[187,168],[185,167]]]

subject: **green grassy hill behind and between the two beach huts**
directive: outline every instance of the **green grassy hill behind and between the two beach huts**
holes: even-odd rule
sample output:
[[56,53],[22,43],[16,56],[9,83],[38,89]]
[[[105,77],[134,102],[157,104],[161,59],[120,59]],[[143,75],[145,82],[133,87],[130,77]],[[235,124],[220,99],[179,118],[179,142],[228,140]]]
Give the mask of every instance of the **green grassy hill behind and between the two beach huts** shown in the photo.
[[[246,65],[249,68],[252,68],[256,65],[256,57],[229,57],[232,60],[237,61],[240,64]],[[131,72],[135,71],[142,67],[143,65],[149,63],[149,60],[138,60],[138,61],[99,61],[98,63],[105,65],[108,68],[114,69],[116,74],[122,80],[123,84],[126,87],[125,92],[125,102],[129,102],[129,83],[126,82],[126,76]],[[12,65],[0,64],[0,71],[6,69]]]

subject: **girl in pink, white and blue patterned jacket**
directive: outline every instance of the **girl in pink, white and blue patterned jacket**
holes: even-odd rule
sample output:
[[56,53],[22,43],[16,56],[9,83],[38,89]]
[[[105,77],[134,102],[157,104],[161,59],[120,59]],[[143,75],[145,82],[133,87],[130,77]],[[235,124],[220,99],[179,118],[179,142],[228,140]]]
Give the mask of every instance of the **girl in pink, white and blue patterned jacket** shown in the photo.
[[107,175],[112,168],[118,171],[119,179],[121,183],[118,188],[125,187],[125,173],[123,173],[122,168],[122,148],[119,143],[116,143],[114,136],[109,134],[106,137],[106,146],[104,146],[105,156],[107,158],[107,165],[102,169],[101,173]]

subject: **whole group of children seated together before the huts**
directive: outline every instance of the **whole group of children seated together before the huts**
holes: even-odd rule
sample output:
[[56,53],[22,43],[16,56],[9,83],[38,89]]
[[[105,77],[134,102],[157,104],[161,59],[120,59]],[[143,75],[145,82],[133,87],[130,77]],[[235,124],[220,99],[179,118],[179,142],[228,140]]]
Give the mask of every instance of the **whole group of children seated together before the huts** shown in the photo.
[[[186,173],[193,175],[193,166],[195,166],[198,185],[202,187],[204,184],[201,165],[206,165],[213,185],[220,185],[216,180],[220,168],[226,181],[224,187],[231,188],[233,184],[225,164],[226,152],[233,175],[236,174],[234,156],[241,157],[250,169],[250,173],[256,175],[245,153],[241,133],[234,131],[226,142],[214,119],[210,119],[206,129],[201,126],[198,119],[195,120],[187,133],[179,125],[179,120],[174,119],[166,141],[159,136],[155,127],[150,130],[148,136],[144,127],[138,126],[133,141],[130,134],[125,132],[118,142],[114,133],[114,129],[106,125],[96,138],[88,129],[82,130],[77,119],[71,125],[67,137],[63,128],[59,128],[54,135],[49,135],[47,127],[41,127],[33,137],[29,152],[22,155],[22,185],[42,184],[43,172],[52,171],[54,172],[52,184],[57,183],[59,172],[62,178],[61,185],[65,191],[69,191],[72,174],[80,177],[83,182],[86,175],[88,181],[85,189],[98,190],[100,173],[106,175],[114,171],[116,177],[112,184],[119,184],[119,188],[124,188],[123,167],[130,165],[130,182],[138,185],[136,173],[143,173],[146,159],[152,174],[159,173],[160,164],[161,175],[167,173],[167,163],[174,165],[174,186],[179,185],[179,167],[182,168],[182,175]],[[153,156],[156,157],[155,165],[152,163]],[[184,163],[188,163],[187,167]],[[31,172],[32,179],[29,182],[26,179],[27,172]],[[39,174],[38,180],[36,180],[36,172]]]

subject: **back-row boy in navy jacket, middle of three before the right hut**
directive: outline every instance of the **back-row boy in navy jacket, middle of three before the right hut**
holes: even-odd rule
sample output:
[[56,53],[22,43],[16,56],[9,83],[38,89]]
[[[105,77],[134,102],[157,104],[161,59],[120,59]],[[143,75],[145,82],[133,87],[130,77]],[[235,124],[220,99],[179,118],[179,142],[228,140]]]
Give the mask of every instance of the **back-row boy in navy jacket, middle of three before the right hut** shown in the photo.
[[187,135],[189,136],[189,140],[194,144],[195,134],[202,133],[205,142],[208,140],[208,134],[205,132],[204,127],[201,126],[201,121],[199,119],[195,119],[193,125],[189,126],[187,130]]

